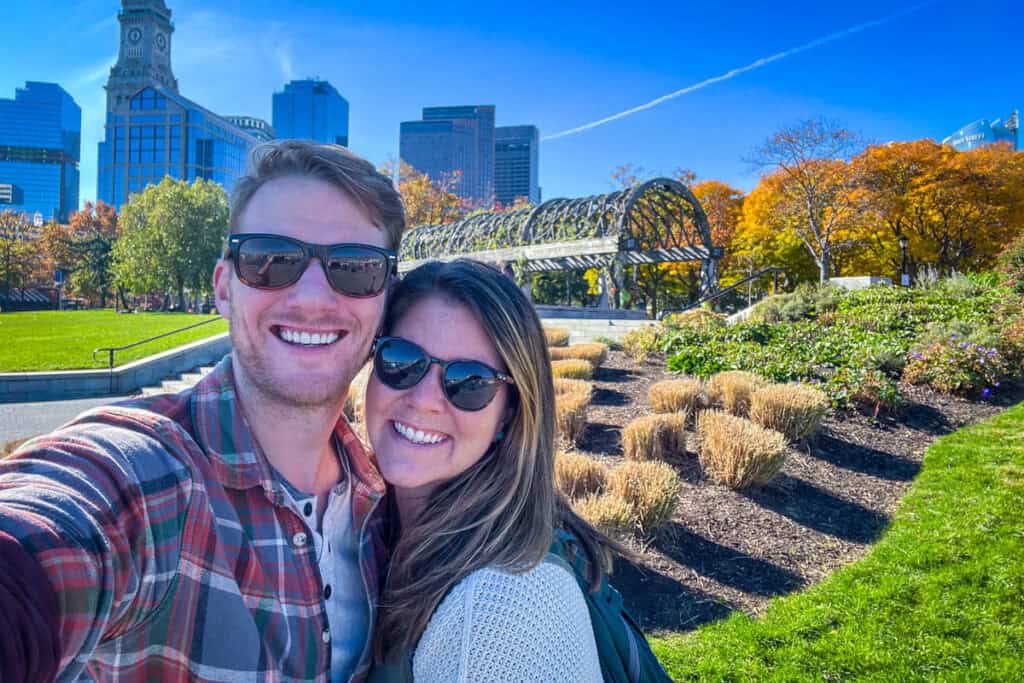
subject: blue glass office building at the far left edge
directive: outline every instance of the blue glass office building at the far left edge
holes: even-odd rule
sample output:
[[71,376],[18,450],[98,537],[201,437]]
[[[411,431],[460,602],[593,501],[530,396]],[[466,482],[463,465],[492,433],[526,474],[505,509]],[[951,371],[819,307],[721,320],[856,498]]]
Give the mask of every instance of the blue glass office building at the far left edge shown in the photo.
[[82,110],[54,83],[0,98],[0,209],[67,222],[78,210]]

